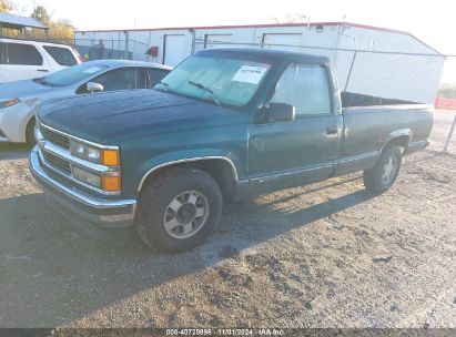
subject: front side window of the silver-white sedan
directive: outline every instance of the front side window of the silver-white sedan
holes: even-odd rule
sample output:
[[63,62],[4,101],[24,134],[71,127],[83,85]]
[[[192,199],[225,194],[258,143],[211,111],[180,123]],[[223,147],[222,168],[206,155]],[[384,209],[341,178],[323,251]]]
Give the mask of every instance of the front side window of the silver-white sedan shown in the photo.
[[143,78],[135,68],[123,68],[111,70],[91,82],[103,85],[104,91],[129,90],[143,86]]

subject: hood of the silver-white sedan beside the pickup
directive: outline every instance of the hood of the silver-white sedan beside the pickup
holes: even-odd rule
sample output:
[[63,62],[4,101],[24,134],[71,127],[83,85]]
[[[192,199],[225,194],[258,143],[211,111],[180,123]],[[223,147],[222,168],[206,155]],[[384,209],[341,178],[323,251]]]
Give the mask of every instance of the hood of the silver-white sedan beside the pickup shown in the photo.
[[41,85],[33,80],[8,82],[0,84],[0,100],[26,100],[42,96],[44,93],[52,90],[55,90],[55,88]]

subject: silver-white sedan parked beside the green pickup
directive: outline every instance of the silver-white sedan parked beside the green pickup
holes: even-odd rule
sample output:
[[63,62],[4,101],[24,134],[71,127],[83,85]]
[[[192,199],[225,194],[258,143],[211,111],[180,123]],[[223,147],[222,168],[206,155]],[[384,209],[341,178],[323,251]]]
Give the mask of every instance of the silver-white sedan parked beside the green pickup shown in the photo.
[[34,112],[44,100],[153,88],[171,69],[148,62],[98,60],[44,78],[0,84],[0,142],[33,144]]

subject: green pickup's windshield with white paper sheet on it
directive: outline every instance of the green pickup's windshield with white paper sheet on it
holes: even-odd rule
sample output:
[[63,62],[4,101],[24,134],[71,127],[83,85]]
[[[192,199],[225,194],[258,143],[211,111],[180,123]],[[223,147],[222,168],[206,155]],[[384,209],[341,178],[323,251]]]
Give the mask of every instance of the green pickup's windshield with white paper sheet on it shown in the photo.
[[249,104],[271,64],[230,57],[195,55],[175,68],[154,89],[217,105]]

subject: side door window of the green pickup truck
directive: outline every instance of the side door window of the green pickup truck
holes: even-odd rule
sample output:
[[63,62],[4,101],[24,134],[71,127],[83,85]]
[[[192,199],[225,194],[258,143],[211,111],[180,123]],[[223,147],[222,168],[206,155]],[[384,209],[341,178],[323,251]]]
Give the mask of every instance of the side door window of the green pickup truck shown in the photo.
[[294,105],[296,115],[331,113],[326,69],[292,63],[275,86],[271,102]]

